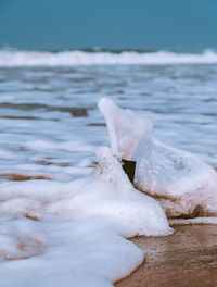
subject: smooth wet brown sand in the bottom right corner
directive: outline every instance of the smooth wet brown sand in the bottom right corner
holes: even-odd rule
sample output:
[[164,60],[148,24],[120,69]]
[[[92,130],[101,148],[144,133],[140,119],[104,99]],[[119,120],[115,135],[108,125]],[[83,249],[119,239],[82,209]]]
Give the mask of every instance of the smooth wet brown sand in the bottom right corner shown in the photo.
[[145,262],[116,287],[217,286],[217,225],[173,227],[170,236],[131,239]]

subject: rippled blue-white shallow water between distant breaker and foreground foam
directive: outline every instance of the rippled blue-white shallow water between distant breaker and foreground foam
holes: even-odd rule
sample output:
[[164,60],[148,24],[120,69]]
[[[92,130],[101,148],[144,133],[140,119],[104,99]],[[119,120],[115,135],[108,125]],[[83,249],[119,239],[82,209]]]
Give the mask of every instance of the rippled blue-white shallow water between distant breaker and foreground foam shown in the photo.
[[[154,122],[158,139],[217,165],[217,65],[0,67],[1,182],[88,174],[107,145],[111,97]],[[11,175],[10,175],[11,174]]]

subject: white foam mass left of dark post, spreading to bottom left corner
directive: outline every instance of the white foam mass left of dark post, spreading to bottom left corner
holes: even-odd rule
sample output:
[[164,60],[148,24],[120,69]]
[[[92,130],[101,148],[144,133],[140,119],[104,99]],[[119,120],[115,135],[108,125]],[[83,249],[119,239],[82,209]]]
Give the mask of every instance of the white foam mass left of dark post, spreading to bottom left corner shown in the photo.
[[111,149],[97,155],[87,178],[0,186],[0,287],[112,286],[144,258],[123,237],[173,233],[158,202],[132,187]]

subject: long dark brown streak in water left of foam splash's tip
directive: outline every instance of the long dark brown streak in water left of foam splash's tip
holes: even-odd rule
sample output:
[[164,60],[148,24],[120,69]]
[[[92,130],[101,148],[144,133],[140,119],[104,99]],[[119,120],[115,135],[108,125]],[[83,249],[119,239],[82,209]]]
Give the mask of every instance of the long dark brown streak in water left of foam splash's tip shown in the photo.
[[59,111],[71,113],[75,117],[79,116],[88,116],[88,110],[90,108],[76,108],[76,107],[55,107],[48,105],[42,103],[9,103],[2,102],[0,103],[0,109],[14,109],[14,110],[23,110],[23,111],[33,111],[33,110],[47,110],[47,111]]

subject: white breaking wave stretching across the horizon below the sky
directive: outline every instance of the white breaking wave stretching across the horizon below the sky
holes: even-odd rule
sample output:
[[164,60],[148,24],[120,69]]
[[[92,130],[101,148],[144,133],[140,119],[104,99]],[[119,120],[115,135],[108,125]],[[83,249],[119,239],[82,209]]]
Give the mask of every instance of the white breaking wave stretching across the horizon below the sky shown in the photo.
[[113,64],[213,64],[217,63],[217,52],[177,53],[169,51],[138,52],[122,51],[16,51],[0,50],[0,66],[71,66]]

